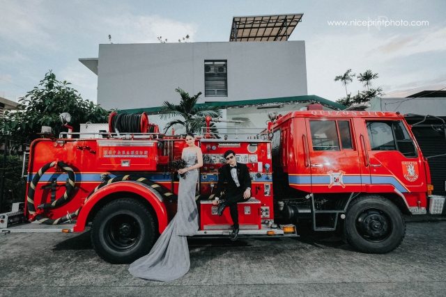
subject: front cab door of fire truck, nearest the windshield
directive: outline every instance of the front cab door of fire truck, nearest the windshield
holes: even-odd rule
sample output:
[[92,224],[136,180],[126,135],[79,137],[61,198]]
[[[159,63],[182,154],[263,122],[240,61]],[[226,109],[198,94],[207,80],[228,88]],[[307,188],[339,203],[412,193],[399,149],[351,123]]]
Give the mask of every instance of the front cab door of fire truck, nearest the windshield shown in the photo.
[[[422,159],[402,120],[365,120],[370,191],[426,192]],[[387,190],[385,188],[388,188]],[[412,204],[412,203],[410,203]]]

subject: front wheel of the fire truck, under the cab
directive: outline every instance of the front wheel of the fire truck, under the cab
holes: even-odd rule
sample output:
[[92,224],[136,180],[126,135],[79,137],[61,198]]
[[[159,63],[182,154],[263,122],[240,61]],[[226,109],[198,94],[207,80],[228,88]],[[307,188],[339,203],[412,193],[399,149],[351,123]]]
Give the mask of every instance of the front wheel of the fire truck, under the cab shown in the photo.
[[347,242],[360,250],[383,254],[397,248],[406,234],[401,211],[380,195],[367,195],[353,200],[344,222]]

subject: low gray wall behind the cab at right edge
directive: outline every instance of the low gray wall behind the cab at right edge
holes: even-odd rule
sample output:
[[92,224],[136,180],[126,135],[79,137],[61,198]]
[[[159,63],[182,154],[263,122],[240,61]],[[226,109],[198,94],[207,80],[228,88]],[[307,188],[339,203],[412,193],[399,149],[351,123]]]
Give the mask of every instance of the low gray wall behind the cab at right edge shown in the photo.
[[399,111],[419,115],[446,116],[446,98],[373,98],[371,111]]

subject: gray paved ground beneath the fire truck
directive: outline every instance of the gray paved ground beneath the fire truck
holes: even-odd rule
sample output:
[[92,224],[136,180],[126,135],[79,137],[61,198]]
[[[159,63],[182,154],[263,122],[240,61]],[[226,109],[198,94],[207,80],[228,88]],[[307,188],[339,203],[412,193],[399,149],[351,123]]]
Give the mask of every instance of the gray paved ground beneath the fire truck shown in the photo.
[[446,222],[408,223],[387,255],[338,239],[190,239],[174,282],[133,278],[95,255],[84,234],[0,236],[1,296],[445,296]]

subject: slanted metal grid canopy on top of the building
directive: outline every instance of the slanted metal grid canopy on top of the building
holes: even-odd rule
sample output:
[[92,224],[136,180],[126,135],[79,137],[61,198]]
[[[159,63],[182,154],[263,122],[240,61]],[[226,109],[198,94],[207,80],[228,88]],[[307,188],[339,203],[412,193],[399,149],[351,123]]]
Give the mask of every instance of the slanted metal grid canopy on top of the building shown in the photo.
[[286,41],[302,15],[233,17],[229,41]]

